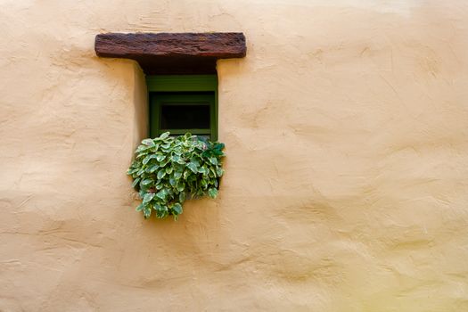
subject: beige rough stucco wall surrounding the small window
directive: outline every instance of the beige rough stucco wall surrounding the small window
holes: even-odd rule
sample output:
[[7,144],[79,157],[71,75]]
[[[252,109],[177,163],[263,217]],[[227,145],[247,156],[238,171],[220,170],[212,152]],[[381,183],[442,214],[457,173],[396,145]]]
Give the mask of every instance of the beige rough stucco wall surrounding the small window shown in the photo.
[[[0,311],[468,311],[468,3],[0,2]],[[242,31],[216,201],[145,221],[108,31]]]

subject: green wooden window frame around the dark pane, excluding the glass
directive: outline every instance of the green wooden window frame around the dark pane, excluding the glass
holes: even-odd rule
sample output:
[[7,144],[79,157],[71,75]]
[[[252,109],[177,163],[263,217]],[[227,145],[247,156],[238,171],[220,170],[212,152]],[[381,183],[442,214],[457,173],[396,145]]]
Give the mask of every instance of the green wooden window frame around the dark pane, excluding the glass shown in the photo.
[[[164,132],[171,135],[208,135],[218,140],[218,76],[158,75],[147,76],[150,105],[150,137]],[[209,105],[209,128],[162,128],[161,110],[167,105]]]

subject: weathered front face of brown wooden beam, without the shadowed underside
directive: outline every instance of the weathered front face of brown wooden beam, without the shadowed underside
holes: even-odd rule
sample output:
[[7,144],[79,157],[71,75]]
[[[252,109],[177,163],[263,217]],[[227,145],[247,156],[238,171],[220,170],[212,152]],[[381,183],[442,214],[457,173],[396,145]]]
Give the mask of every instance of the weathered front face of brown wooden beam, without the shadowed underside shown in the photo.
[[242,33],[135,33],[100,34],[94,50],[101,57],[138,60],[158,57],[197,57],[227,59],[244,57]]

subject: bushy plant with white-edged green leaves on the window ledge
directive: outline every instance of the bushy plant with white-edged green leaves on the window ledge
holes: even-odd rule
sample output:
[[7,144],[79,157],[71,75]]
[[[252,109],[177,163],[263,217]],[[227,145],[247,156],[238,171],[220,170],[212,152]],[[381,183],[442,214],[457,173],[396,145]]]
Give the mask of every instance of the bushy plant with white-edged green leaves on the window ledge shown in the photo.
[[143,211],[144,218],[154,210],[157,218],[172,215],[177,219],[186,198],[216,198],[218,180],[224,172],[224,147],[188,133],[172,137],[166,132],[144,139],[127,171],[143,200],[136,210]]

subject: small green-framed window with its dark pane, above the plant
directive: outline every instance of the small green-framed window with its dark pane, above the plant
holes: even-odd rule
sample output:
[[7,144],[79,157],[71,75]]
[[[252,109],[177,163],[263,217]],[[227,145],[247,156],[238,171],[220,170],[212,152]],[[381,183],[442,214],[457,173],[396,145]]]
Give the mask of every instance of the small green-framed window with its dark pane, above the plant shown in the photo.
[[218,77],[159,75],[146,78],[150,103],[150,136],[190,132],[218,139]]

